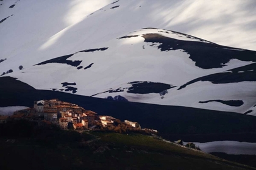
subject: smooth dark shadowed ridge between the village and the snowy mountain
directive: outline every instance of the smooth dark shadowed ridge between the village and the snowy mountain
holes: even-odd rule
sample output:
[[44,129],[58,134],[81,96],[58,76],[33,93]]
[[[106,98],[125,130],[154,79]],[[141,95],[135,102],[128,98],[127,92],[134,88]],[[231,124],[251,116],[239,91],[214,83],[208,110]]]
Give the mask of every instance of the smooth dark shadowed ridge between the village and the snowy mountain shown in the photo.
[[58,98],[93,110],[99,115],[137,121],[142,127],[157,129],[168,140],[256,142],[256,117],[199,108],[118,102],[59,91],[35,90],[12,77],[0,78],[0,107],[32,107],[39,99]]

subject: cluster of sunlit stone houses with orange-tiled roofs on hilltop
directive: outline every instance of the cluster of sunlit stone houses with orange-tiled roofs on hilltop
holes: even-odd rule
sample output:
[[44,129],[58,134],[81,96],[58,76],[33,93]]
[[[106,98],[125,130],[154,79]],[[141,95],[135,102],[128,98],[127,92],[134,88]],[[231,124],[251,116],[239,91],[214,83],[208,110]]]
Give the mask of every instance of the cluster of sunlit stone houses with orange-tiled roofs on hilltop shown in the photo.
[[122,129],[129,129],[157,133],[157,130],[141,129],[138,122],[128,120],[121,122],[112,116],[98,115],[96,112],[85,110],[79,105],[59,101],[59,99],[34,101],[33,108],[18,110],[12,116],[0,116],[0,123],[19,119],[37,121],[40,126],[55,125],[63,130],[110,129],[121,132]]

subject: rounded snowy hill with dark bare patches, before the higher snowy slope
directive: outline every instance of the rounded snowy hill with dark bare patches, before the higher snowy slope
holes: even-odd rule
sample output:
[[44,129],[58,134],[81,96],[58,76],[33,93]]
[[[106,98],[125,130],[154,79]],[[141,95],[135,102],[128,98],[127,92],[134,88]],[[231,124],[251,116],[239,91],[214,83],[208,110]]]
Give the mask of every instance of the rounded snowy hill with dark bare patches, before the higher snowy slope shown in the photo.
[[[151,37],[147,39],[148,35],[154,35],[152,42],[147,42],[151,40]],[[179,43],[182,45],[172,49],[167,42],[166,48],[162,39],[163,42],[170,41],[176,46],[179,46]],[[42,90],[66,91],[102,98],[121,95],[129,101],[151,104],[181,105],[239,113],[246,113],[255,105],[256,79],[251,77],[255,76],[255,71],[236,73],[233,69],[253,64],[256,61],[256,52],[241,51],[242,55],[248,54],[252,61],[248,61],[247,58],[243,61],[238,56],[222,63],[222,58],[219,61],[216,58],[213,65],[213,62],[200,60],[200,57],[207,54],[206,50],[196,52],[194,55],[196,49],[187,49],[187,46],[192,45],[195,48],[200,46],[214,50],[218,55],[222,55],[216,49],[222,49],[222,46],[190,35],[163,29],[141,29],[102,43],[99,48],[57,56],[5,76],[18,78]],[[231,53],[230,57],[236,55],[236,51],[232,49],[222,50]],[[218,74],[224,74],[223,80]],[[230,79],[230,82],[223,82],[229,81],[226,74],[236,77]],[[241,79],[240,74],[246,74],[246,79]],[[206,78],[201,78],[205,76]],[[207,79],[208,76],[211,78]],[[191,82],[196,79],[199,80]],[[63,86],[62,83],[65,82],[73,85]],[[163,85],[169,87],[162,88]],[[230,105],[229,102],[232,101],[240,101],[241,105]]]

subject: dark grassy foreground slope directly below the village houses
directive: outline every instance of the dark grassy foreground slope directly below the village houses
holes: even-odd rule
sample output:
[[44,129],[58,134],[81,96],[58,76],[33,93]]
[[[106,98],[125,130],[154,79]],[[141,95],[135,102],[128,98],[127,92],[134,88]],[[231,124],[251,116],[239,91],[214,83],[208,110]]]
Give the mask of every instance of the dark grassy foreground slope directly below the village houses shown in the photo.
[[[77,135],[58,133],[66,133],[66,138]],[[7,143],[2,137],[0,169],[253,169],[151,136],[103,132],[81,136],[76,141],[59,139],[59,143],[54,136],[48,143],[35,138]]]

